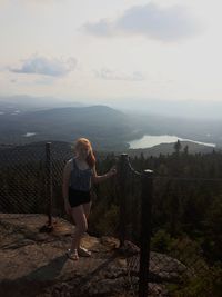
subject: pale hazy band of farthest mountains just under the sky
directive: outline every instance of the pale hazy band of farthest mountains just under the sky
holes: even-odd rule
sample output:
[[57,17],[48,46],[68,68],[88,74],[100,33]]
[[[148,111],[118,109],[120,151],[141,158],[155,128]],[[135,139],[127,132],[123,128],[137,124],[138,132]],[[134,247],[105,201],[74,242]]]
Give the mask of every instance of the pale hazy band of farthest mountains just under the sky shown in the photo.
[[[27,105],[37,108],[58,108],[58,107],[84,107],[92,105],[104,105],[114,109],[119,109],[128,113],[160,115],[165,117],[182,117],[192,119],[222,120],[222,102],[220,101],[198,101],[198,100],[161,100],[161,99],[128,99],[121,100],[107,99],[89,100],[56,97],[37,97],[37,96],[2,96],[0,95],[0,103],[14,102],[17,105]],[[0,106],[1,112],[1,106]]]

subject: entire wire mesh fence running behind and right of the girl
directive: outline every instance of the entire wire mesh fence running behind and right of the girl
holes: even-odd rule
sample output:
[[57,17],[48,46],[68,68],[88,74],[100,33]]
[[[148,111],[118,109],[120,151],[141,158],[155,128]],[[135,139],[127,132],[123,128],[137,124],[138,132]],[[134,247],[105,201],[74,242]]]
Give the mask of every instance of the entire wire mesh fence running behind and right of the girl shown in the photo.
[[[0,149],[0,212],[51,214],[54,217],[70,219],[63,207],[62,172],[65,161],[73,157],[73,151],[67,143],[53,142],[50,147],[50,162],[48,152],[44,142]],[[140,258],[141,230],[144,227],[141,220],[142,212],[145,216],[142,204],[142,174],[133,169],[130,159],[122,165],[120,156],[114,155],[98,158],[97,169],[102,174],[102,170],[109,170],[114,164],[118,165],[117,177],[101,185],[93,185],[90,217],[93,224],[89,221],[89,231],[98,236],[120,238],[127,258],[125,283],[129,284],[129,296],[138,296],[140,261],[144,260]],[[147,251],[149,295],[195,296],[192,295],[193,283],[209,284],[213,274],[215,278],[219,276],[203,255],[201,245],[192,240],[192,235],[196,236],[196,230],[191,230],[191,220],[200,224],[202,234],[205,227],[201,211],[195,212],[195,216],[192,214],[192,201],[206,182],[212,182],[214,191],[221,195],[221,179],[161,176],[154,176],[152,179],[152,205],[149,206],[152,207],[152,224],[148,234],[151,242]],[[193,182],[189,191],[188,182]],[[205,191],[209,194],[208,188]],[[205,199],[211,199],[210,194]],[[182,212],[181,209],[186,211]],[[179,231],[181,229],[182,234]],[[211,286],[206,286],[205,293],[204,296],[212,296]],[[140,296],[144,295],[141,293]]]

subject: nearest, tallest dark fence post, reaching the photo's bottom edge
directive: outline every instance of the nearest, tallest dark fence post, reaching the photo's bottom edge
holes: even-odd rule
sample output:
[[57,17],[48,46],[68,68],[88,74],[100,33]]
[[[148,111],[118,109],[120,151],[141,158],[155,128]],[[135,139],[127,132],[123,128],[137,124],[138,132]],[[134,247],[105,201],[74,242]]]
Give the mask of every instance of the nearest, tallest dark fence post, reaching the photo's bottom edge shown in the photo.
[[148,296],[152,195],[153,195],[153,171],[147,169],[143,171],[142,175],[139,297]]

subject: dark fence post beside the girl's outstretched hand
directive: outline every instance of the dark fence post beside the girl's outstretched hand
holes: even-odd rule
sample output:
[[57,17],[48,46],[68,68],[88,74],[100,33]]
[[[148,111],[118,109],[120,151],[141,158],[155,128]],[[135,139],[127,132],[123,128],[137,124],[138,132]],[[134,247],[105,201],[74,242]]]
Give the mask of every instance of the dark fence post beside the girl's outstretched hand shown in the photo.
[[123,245],[125,240],[125,202],[127,202],[127,159],[128,154],[121,154],[120,164],[118,168],[119,181],[120,181],[120,219],[119,219],[119,236],[120,236],[120,246]]

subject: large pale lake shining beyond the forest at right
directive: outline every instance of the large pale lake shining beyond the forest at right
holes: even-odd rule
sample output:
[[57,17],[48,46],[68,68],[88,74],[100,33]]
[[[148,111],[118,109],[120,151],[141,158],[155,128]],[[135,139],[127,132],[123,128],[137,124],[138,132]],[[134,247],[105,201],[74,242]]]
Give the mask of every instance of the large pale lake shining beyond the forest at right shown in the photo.
[[194,141],[191,139],[184,139],[180,138],[178,136],[170,136],[170,135],[161,135],[161,136],[151,136],[151,135],[145,135],[141,139],[135,139],[129,142],[130,148],[137,149],[137,148],[151,148],[161,143],[174,143],[178,140],[180,141],[191,141],[194,143],[199,145],[204,145],[209,147],[215,147],[215,143],[208,143],[208,142],[200,142],[200,141]]

